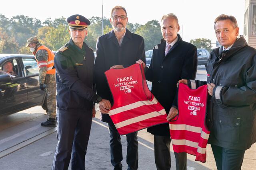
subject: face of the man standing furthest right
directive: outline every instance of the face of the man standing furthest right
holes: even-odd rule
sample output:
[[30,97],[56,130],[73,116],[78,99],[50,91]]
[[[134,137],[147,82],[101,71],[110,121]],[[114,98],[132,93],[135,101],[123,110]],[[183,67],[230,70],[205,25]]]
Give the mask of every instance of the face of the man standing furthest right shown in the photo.
[[239,33],[239,28],[234,27],[230,20],[220,20],[214,25],[216,37],[225,49],[234,44]]

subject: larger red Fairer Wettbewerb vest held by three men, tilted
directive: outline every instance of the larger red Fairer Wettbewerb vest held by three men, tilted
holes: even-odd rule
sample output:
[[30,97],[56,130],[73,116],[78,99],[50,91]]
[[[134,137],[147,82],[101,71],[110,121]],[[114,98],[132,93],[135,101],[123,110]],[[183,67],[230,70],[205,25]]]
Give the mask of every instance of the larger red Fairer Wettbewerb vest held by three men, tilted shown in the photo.
[[120,135],[168,123],[164,107],[148,89],[140,64],[105,72],[114,104],[109,111]]

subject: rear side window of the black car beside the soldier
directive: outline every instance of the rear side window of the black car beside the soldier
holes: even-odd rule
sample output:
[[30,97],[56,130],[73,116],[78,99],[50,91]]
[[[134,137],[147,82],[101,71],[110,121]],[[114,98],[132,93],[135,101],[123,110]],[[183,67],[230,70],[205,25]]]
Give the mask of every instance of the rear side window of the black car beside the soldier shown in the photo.
[[26,76],[38,74],[38,65],[35,59],[22,58],[22,61],[24,64],[24,71],[26,73]]

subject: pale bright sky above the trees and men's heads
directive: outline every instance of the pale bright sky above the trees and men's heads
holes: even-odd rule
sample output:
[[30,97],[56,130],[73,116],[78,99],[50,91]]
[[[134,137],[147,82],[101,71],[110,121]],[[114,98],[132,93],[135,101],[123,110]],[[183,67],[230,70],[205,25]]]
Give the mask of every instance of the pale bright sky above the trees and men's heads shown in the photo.
[[74,14],[102,17],[102,4],[104,17],[110,18],[111,9],[120,5],[126,8],[128,21],[139,24],[160,21],[163,15],[174,13],[179,20],[179,33],[188,42],[207,38],[215,43],[214,19],[220,14],[234,16],[240,35],[243,34],[245,0],[1,0],[0,14],[7,18],[24,15],[41,21]]

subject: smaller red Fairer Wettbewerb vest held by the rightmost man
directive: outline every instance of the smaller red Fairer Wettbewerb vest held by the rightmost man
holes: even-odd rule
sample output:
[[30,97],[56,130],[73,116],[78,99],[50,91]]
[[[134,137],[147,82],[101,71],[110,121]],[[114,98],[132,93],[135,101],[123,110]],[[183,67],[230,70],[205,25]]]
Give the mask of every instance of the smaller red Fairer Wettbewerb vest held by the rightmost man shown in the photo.
[[207,85],[190,89],[180,83],[178,89],[179,115],[170,121],[170,135],[174,152],[196,156],[196,161],[206,161],[206,145],[210,131],[206,128]]

